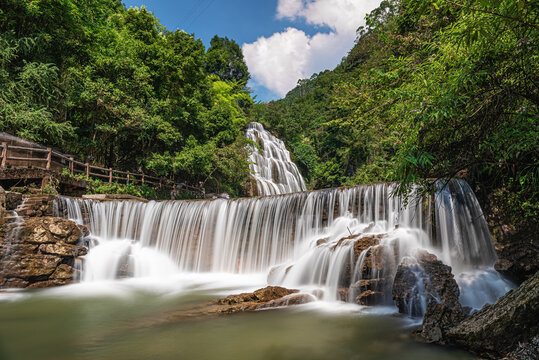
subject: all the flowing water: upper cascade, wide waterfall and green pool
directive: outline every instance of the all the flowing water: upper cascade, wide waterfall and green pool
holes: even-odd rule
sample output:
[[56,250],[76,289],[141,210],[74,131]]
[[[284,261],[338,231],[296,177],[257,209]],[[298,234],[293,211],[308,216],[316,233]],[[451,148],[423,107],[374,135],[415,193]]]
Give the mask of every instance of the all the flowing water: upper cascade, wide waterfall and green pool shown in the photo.
[[[397,315],[390,294],[385,306],[355,301],[362,280],[393,279],[397,265],[421,249],[452,267],[465,306],[479,309],[512,287],[492,268],[492,239],[469,185],[439,183],[434,195],[413,192],[408,201],[393,196],[396,184],[298,192],[305,183],[284,144],[257,123],[247,136],[262,150],[251,158],[259,193],[281,195],[58,198],[56,216],[91,233],[89,253],[76,262],[80,282],[0,292],[0,358],[466,358],[411,340],[406,334],[420,318]],[[356,251],[360,242],[368,246]],[[381,268],[369,268],[374,254]],[[414,273],[421,294],[425,274],[419,265]],[[268,284],[318,300],[226,318],[188,316],[193,304]],[[424,299],[409,307],[421,315]]]

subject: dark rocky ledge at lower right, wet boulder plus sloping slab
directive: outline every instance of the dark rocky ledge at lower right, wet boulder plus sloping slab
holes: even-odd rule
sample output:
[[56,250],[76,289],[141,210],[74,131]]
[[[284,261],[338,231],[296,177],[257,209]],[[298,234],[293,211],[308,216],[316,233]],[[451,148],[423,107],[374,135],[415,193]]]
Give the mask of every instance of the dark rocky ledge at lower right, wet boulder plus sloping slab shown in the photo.
[[485,358],[537,359],[539,272],[495,304],[467,315],[451,267],[419,251],[399,265],[393,299],[401,313],[424,314],[415,331],[422,341],[462,347]]

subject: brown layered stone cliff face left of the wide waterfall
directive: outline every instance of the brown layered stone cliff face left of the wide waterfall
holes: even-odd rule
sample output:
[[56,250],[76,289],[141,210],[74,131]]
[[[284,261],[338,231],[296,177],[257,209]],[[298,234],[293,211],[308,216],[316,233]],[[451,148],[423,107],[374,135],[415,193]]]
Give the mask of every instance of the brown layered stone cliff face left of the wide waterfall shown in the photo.
[[[75,259],[88,251],[85,227],[50,216],[50,198],[26,198],[17,217],[8,216],[0,231],[0,289],[41,288],[70,283]],[[49,201],[47,201],[47,199]],[[21,199],[22,200],[22,199]],[[38,216],[38,217],[35,217]]]

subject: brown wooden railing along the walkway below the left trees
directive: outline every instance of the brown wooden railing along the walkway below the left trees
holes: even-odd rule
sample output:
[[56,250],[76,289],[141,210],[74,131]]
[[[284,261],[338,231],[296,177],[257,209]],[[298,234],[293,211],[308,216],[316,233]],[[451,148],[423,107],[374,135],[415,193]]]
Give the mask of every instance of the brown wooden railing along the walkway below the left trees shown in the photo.
[[159,188],[167,187],[174,189],[176,187],[173,180],[164,177],[150,176],[143,172],[132,173],[90,165],[89,163],[75,160],[73,156],[63,155],[51,148],[43,149],[8,145],[6,142],[2,143],[1,169],[29,166],[57,172],[62,172],[62,169],[68,169],[71,174],[83,174],[86,176],[86,179],[90,177],[99,178],[108,181],[108,183],[114,181],[125,182],[126,184],[148,184]]

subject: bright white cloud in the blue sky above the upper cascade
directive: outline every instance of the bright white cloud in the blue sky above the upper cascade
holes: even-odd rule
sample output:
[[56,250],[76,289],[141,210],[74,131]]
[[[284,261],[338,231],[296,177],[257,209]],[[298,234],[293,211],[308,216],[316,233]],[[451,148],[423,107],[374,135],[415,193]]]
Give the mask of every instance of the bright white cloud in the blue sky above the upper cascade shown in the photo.
[[244,44],[243,53],[254,82],[284,96],[299,79],[334,68],[352,48],[365,15],[379,3],[380,0],[279,0],[277,18],[302,18],[331,31],[309,36],[290,27]]

